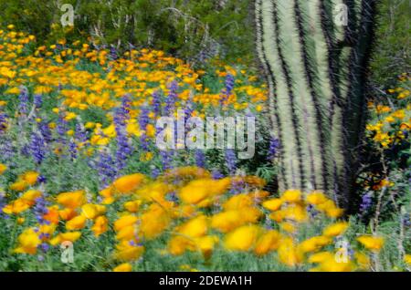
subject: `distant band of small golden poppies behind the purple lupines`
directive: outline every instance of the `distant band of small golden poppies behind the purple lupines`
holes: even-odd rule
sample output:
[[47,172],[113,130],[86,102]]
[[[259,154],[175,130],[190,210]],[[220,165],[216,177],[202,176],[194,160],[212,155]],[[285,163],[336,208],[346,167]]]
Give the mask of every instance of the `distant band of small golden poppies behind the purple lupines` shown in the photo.
[[[178,81],[180,88],[175,109],[184,108],[187,100],[193,101],[198,105],[193,116],[205,118],[208,110],[220,107],[224,97],[221,91],[205,87],[202,77],[210,72],[194,70],[183,60],[168,57],[163,51],[132,49],[114,59],[109,49],[92,48],[79,41],[68,45],[62,39],[56,45],[37,47],[33,53],[27,54],[26,47],[35,45],[36,37],[16,32],[13,28],[0,30],[0,86],[7,88],[4,92],[7,98],[0,98],[0,109],[9,99],[16,98],[21,86],[26,86],[33,94],[56,96],[59,104],[52,111],[63,115],[66,121],[79,119],[81,111],[107,110],[106,117],[111,122],[108,126],[91,121],[85,124],[86,129],[92,130],[91,145],[107,145],[116,137],[109,110],[118,107],[124,95],[132,96],[127,132],[130,136],[145,134],[150,138],[155,134],[153,125],[140,128],[136,118],[142,106],[153,102],[154,92],[162,91],[164,96],[170,92],[168,84],[173,80]],[[88,64],[97,72],[85,70],[82,64]],[[218,60],[213,64],[216,68],[212,73],[219,87],[224,87],[227,74],[237,77],[236,88],[224,100],[227,108],[237,111],[265,108],[267,89],[265,85],[258,85],[257,78],[249,77],[246,70],[237,70]],[[160,116],[152,112],[149,117],[156,119]],[[56,124],[50,123],[49,126],[55,128]],[[71,136],[73,131],[68,130],[67,134]]]

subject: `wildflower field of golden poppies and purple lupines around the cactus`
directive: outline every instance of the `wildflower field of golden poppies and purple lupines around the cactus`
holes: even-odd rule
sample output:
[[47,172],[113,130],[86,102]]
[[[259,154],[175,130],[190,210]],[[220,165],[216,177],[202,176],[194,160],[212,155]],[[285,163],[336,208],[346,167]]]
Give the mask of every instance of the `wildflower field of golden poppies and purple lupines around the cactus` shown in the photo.
[[[347,212],[331,192],[273,182],[269,86],[241,61],[193,67],[0,28],[1,271],[411,269],[409,74],[368,101]],[[156,121],[179,109],[255,118],[254,157],[159,149]]]

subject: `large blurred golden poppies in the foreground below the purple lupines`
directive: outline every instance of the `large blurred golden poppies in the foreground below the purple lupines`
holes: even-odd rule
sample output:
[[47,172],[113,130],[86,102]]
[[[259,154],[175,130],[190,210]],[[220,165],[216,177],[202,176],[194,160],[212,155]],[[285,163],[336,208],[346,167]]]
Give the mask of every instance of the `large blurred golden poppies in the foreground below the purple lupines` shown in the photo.
[[[26,224],[27,212],[43,195],[36,174],[26,172],[10,186],[26,191],[3,210],[16,215],[18,223]],[[245,185],[243,193],[230,194],[239,181]],[[16,184],[21,185],[17,188]],[[310,264],[311,271],[370,269],[369,254],[382,249],[383,237],[358,236],[356,250],[348,253],[349,249],[336,245],[350,225],[337,221],[342,210],[332,200],[322,192],[298,190],[273,198],[262,190],[264,184],[253,176],[215,180],[204,169],[186,167],[167,171],[155,180],[140,173],[122,176],[100,192],[100,199],[87,198],[84,190],[61,192],[47,198],[51,205],[42,217],[47,223],[26,227],[18,235],[14,252],[37,254],[42,243],[57,246],[76,243],[89,234],[96,238],[114,235],[111,259],[123,263],[114,270],[125,271],[144,255],[147,243],[166,236],[164,254],[196,252],[205,261],[222,247],[257,256],[276,253],[273,263],[277,259],[290,268]],[[321,234],[301,237],[316,221],[326,224]],[[345,260],[340,261],[342,254]]]

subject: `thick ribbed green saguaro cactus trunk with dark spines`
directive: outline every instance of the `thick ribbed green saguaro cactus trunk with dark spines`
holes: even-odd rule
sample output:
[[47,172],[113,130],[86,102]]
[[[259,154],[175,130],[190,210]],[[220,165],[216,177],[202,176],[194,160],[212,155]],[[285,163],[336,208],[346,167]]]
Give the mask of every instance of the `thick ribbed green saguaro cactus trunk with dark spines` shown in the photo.
[[280,190],[322,190],[348,206],[375,2],[255,0],[258,57],[281,143]]

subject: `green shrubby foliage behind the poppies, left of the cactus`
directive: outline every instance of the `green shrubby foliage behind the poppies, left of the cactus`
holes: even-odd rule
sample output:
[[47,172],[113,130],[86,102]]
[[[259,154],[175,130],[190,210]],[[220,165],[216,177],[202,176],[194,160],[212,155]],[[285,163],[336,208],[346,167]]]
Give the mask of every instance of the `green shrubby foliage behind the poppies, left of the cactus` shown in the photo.
[[52,44],[92,36],[94,42],[128,48],[155,47],[201,61],[216,54],[237,59],[252,55],[248,1],[68,0],[74,27],[61,27],[64,12],[54,1],[10,0],[0,4],[0,23]]

